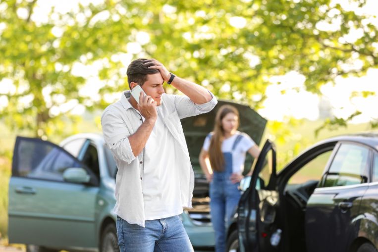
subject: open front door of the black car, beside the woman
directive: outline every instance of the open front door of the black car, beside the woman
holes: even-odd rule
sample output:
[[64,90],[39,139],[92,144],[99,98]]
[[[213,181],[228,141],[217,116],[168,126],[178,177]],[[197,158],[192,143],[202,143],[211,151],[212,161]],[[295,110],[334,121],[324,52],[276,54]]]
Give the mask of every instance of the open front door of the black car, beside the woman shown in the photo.
[[279,194],[276,191],[276,151],[267,140],[257,159],[249,188],[238,206],[241,252],[279,251],[282,230],[278,223]]

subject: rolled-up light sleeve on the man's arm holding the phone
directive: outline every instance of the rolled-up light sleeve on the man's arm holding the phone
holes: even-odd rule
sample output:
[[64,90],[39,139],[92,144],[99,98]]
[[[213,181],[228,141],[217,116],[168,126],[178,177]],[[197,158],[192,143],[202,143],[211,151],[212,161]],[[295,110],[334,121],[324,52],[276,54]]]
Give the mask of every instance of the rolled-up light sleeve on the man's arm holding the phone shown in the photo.
[[135,156],[128,139],[130,132],[124,121],[109,110],[101,117],[104,140],[113,155],[120,161],[131,163]]

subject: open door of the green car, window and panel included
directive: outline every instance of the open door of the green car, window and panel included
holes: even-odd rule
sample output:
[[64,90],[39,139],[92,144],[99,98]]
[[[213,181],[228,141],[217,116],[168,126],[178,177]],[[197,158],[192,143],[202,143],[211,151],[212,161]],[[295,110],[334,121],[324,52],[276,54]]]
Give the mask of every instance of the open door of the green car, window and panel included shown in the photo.
[[[86,182],[72,181],[78,169],[88,176]],[[97,177],[69,152],[48,141],[17,137],[9,181],[9,242],[93,247],[98,192]]]

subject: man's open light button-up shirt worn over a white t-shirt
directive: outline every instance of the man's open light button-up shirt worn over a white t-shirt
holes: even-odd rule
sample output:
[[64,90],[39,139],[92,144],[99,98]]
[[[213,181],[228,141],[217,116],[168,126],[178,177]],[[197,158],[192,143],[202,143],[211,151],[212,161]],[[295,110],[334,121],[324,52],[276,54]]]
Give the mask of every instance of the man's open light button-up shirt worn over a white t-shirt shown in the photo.
[[[180,119],[211,111],[217,100],[212,93],[210,94],[212,100],[204,104],[196,104],[187,96],[162,95],[162,120],[175,140],[175,147],[178,147],[175,152],[177,160],[181,163],[177,169],[180,169],[178,179],[181,185],[183,207],[192,207],[194,172]],[[128,140],[128,136],[138,130],[143,119],[130,104],[129,98],[130,91],[123,92],[119,101],[104,110],[101,124],[105,142],[113,153],[118,167],[115,179],[114,212],[128,223],[144,227],[145,211],[141,183],[144,150],[138,156],[134,156]]]

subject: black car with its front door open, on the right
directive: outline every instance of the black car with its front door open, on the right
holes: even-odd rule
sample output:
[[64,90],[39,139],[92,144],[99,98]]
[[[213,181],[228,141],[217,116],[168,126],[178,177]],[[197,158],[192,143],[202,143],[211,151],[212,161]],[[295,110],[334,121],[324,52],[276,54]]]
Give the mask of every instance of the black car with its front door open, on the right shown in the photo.
[[267,141],[227,244],[241,252],[377,252],[378,134],[322,141],[279,173]]

